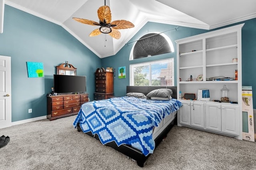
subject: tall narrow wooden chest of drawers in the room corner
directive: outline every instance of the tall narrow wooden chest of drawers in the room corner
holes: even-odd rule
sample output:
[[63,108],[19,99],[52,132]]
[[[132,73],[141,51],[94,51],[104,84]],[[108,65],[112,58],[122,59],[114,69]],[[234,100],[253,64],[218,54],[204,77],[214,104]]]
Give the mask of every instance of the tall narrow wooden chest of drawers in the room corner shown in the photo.
[[95,86],[94,100],[104,100],[114,96],[114,73],[106,72],[104,68],[97,68]]

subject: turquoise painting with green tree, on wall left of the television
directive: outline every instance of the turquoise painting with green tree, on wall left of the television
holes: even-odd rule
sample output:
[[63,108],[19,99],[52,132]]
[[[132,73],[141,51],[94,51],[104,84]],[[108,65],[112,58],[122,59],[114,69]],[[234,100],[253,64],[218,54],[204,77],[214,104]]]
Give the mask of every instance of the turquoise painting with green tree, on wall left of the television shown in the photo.
[[38,62],[27,62],[28,77],[44,77],[44,65]]

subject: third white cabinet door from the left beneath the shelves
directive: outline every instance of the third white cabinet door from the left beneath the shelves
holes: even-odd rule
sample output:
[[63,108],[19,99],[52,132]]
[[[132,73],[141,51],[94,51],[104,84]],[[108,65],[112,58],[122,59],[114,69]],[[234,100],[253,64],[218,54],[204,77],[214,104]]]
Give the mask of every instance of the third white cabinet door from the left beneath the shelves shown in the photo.
[[221,132],[221,105],[206,103],[205,128]]

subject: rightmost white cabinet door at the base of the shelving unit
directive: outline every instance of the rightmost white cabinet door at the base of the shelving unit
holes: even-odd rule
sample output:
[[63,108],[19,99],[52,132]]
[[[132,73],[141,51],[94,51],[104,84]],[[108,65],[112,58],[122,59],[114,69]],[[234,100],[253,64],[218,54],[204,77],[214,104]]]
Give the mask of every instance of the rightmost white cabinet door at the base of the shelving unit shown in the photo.
[[222,132],[239,135],[239,106],[222,105]]

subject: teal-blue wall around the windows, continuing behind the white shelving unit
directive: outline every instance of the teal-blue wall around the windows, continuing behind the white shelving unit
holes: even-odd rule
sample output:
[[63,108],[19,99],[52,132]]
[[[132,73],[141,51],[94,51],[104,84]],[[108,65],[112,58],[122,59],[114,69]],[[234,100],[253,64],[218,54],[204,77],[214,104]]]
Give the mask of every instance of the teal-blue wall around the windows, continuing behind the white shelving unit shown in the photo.
[[[256,18],[251,20],[246,20],[243,22],[235,23],[232,25],[237,25],[240,23],[245,23],[242,28],[242,85],[243,86],[252,86],[253,89],[253,98],[256,99]],[[226,27],[232,26],[228,25]],[[152,23],[148,22],[144,27],[134,35],[134,37],[130,40],[130,42],[136,41],[140,39],[143,35],[151,32],[163,32],[169,29],[175,28],[176,25],[167,25],[161,23]],[[224,27],[220,27],[221,29]],[[118,79],[118,76],[114,79],[114,95],[115,96],[124,96],[126,94],[126,86],[130,84],[129,79],[129,65],[134,63],[142,63],[147,61],[154,61],[166,58],[174,57],[174,62],[176,65],[176,43],[175,40],[182,39],[185,37],[190,37],[193,35],[197,35],[200,33],[205,33],[212,30],[203,30],[203,29],[195,29],[189,27],[179,27],[177,31],[171,30],[165,32],[165,34],[170,37],[173,45],[174,45],[174,53],[168,53],[158,56],[147,57],[143,59],[136,59],[134,61],[129,61],[130,51],[134,43],[130,43],[129,45],[125,45],[115,56],[106,57],[102,59],[103,67],[113,67],[116,69],[116,74],[118,73],[118,67],[126,66],[126,78]],[[176,70],[176,68],[175,68]],[[175,73],[176,80],[176,73]],[[176,86],[176,83],[175,83]],[[254,108],[256,108],[256,101],[254,102]]]

